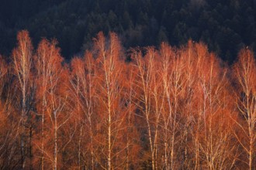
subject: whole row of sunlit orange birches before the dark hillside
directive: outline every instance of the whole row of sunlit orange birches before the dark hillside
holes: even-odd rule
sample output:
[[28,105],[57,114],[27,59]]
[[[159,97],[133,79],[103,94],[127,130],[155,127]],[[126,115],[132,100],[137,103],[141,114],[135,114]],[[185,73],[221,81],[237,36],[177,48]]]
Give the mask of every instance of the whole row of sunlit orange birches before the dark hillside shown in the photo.
[[255,169],[256,63],[202,42],[126,50],[99,32],[66,62],[17,34],[0,57],[0,169]]

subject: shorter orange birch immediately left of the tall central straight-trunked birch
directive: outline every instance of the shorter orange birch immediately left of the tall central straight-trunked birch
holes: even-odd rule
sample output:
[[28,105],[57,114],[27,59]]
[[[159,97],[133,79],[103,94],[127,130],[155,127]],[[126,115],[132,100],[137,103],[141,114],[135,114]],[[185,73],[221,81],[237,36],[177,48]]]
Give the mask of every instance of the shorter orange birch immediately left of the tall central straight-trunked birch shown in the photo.
[[[76,117],[80,126],[78,134],[78,167],[95,168],[93,150],[95,119],[95,59],[86,52],[85,58],[71,61],[71,88],[76,100]],[[87,138],[89,136],[89,138]]]

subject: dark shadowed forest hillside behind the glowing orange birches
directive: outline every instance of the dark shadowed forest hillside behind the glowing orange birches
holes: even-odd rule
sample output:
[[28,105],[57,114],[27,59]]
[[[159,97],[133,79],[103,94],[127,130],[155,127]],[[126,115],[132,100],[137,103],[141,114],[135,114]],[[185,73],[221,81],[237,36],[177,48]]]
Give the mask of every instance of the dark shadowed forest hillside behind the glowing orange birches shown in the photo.
[[223,60],[256,49],[255,0],[9,0],[0,6],[0,50],[9,55],[16,32],[37,44],[57,38],[66,59],[81,54],[99,31],[118,33],[126,48],[205,42]]

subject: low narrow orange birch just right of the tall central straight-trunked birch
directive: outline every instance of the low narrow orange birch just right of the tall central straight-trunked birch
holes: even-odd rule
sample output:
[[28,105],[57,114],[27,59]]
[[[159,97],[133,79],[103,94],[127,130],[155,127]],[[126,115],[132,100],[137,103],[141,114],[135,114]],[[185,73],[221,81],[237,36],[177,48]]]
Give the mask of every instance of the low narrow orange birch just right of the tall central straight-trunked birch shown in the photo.
[[126,126],[124,127],[123,140],[126,141],[126,169],[140,168],[140,136],[136,124],[136,91],[135,84],[136,70],[133,70],[133,63],[126,63],[123,77],[126,77],[123,90],[123,99],[125,100],[124,107],[126,110]]

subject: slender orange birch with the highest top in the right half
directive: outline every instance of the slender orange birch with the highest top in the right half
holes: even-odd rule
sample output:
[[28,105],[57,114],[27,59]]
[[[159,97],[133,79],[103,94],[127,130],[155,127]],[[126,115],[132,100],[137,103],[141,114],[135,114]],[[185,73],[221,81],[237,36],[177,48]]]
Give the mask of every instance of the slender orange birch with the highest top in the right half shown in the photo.
[[195,111],[195,86],[197,81],[197,72],[199,70],[199,61],[195,53],[195,43],[189,40],[188,45],[178,50],[185,64],[185,85],[184,99],[182,106],[182,168],[192,168],[192,117]]

